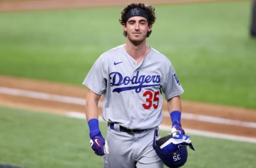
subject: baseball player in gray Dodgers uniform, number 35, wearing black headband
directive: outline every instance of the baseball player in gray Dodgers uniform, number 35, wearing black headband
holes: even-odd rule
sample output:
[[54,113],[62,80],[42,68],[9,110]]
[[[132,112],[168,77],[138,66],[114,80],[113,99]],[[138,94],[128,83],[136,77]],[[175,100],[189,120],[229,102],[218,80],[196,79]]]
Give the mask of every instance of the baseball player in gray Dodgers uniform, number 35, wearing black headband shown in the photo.
[[[184,133],[180,81],[168,58],[146,44],[155,19],[154,7],[127,5],[119,19],[126,43],[103,53],[83,81],[89,88],[86,117],[91,147],[103,156],[104,167],[164,167],[153,149],[163,97],[173,128]],[[98,122],[101,95],[102,117],[108,123],[105,138]]]

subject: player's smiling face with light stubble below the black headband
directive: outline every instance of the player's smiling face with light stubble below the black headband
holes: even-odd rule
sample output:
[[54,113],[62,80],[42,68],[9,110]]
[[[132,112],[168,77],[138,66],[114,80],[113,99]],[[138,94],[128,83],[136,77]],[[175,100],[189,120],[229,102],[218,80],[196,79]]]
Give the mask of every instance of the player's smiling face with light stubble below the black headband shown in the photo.
[[127,32],[127,39],[133,44],[139,45],[147,38],[147,33],[151,31],[146,18],[134,16],[129,18],[124,25],[124,31]]

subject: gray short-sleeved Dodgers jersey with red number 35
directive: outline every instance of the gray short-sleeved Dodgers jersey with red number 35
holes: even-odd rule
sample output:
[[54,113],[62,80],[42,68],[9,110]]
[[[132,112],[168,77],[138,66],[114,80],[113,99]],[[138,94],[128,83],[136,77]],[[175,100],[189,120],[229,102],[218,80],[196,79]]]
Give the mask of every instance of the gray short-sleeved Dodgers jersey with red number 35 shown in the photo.
[[162,122],[163,93],[166,99],[183,93],[166,56],[151,48],[137,65],[124,45],[103,53],[83,85],[95,94],[104,95],[103,119],[127,129],[157,127]]

